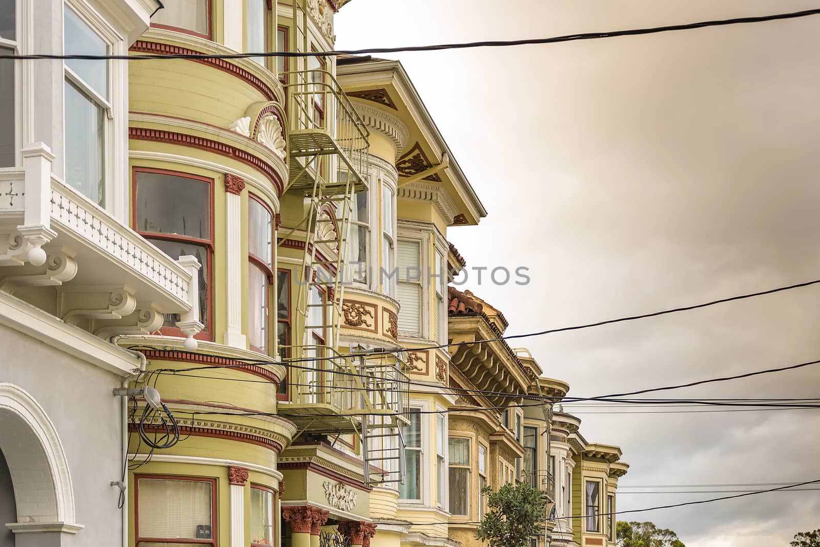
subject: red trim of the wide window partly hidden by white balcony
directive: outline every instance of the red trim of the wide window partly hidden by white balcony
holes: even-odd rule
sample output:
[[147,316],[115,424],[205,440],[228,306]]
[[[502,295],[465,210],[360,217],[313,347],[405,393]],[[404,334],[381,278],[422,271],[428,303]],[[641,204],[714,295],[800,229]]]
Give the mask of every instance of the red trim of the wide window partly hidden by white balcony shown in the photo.
[[[208,212],[208,221],[210,222],[210,226],[208,227],[208,233],[211,235],[211,239],[199,239],[189,237],[187,235],[174,235],[174,234],[160,234],[156,232],[144,232],[139,230],[139,226],[137,226],[137,174],[138,173],[156,173],[157,175],[171,175],[171,176],[179,176],[185,179],[194,179],[194,180],[201,180],[203,182],[207,182],[210,188],[210,205],[209,207],[211,210]],[[155,239],[163,239],[166,241],[189,241],[190,243],[203,245],[207,248],[207,272],[208,272],[208,279],[207,279],[207,311],[205,317],[207,318],[207,325],[205,330],[195,335],[194,338],[197,340],[212,340],[213,337],[213,254],[214,254],[214,219],[213,219],[213,211],[214,211],[214,204],[213,204],[213,194],[214,194],[214,179],[209,178],[207,176],[200,176],[200,175],[193,175],[191,173],[187,173],[185,171],[171,171],[169,169],[156,169],[154,167],[138,167],[134,166],[131,170],[131,226],[134,228],[139,235],[142,235],[144,238],[155,238]],[[176,336],[179,338],[185,338],[185,333],[182,330],[176,328],[175,326],[163,326],[160,328],[160,333],[163,335],[168,336]]]

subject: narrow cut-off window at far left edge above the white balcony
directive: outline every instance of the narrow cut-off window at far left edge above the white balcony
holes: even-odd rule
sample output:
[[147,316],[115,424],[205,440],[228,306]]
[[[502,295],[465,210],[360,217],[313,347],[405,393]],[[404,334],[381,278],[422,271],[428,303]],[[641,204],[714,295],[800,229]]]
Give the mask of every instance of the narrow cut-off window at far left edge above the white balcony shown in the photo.
[[[0,1],[0,55],[15,55],[17,51],[16,2]],[[11,59],[0,59],[0,167],[13,167],[16,164],[17,148],[15,143],[16,107],[15,107],[15,66]]]

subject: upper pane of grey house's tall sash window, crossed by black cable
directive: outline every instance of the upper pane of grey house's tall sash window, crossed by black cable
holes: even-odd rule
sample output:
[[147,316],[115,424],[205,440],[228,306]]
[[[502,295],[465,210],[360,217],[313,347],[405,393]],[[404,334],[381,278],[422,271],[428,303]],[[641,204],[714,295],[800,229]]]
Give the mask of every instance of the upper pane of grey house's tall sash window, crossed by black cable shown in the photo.
[[[106,55],[108,46],[85,21],[80,19],[70,7],[65,7],[66,34],[64,37],[66,55]],[[68,66],[80,76],[91,89],[108,97],[108,62],[104,60],[87,61],[83,59],[66,59]],[[66,105],[68,112],[68,105]],[[67,125],[67,124],[66,124]],[[70,139],[66,139],[69,142]]]

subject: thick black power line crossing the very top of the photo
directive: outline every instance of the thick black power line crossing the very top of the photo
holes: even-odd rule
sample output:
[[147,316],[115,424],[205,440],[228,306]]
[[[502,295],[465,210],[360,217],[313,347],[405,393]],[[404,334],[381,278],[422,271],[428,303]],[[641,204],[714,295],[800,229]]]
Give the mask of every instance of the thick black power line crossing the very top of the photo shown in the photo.
[[517,40],[486,40],[481,42],[464,43],[439,43],[424,46],[402,46],[398,48],[364,48],[364,49],[339,49],[326,52],[248,52],[248,53],[176,53],[171,55],[158,54],[134,54],[134,55],[0,55],[0,59],[123,59],[123,60],[143,60],[143,59],[243,59],[247,57],[330,57],[336,55],[362,55],[367,53],[399,53],[399,52],[430,52],[445,49],[469,49],[469,48],[507,48],[511,46],[537,45],[546,43],[576,42],[579,40],[592,40],[604,38],[617,38],[619,36],[638,36],[642,34],[659,34],[676,30],[695,30],[712,26],[742,25],[748,23],[762,23],[765,21],[778,21],[785,19],[797,19],[820,14],[820,9],[794,11],[790,13],[779,13],[768,16],[736,17],[732,19],[721,19],[715,21],[699,21],[682,25],[665,25],[631,30],[610,30],[606,32],[587,32],[581,34],[565,34],[563,36],[553,36],[550,38],[531,38]]

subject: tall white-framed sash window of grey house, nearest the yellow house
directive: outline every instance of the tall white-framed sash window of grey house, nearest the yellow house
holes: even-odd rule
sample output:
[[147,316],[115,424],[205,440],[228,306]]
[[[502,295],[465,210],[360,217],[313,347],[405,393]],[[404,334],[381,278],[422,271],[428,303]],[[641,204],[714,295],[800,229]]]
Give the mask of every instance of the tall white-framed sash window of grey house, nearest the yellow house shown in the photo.
[[[71,7],[63,8],[66,55],[107,55],[108,45]],[[108,62],[66,59],[66,184],[105,205]]]

